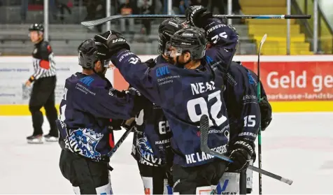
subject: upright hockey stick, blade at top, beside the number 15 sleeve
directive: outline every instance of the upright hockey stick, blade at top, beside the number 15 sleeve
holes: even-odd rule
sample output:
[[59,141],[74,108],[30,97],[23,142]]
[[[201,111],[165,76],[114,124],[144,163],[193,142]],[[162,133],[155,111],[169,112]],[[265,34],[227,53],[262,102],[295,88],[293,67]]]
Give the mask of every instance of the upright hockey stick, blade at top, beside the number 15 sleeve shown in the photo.
[[[264,34],[262,37],[262,41],[260,41],[260,45],[258,48],[258,64],[257,64],[257,98],[260,103],[261,101],[261,92],[260,92],[260,52],[262,49],[262,45],[264,45],[264,41],[266,41],[267,34]],[[262,168],[262,127],[261,124],[259,126],[258,131],[258,165],[259,168]],[[262,194],[262,174],[259,173],[259,194]]]

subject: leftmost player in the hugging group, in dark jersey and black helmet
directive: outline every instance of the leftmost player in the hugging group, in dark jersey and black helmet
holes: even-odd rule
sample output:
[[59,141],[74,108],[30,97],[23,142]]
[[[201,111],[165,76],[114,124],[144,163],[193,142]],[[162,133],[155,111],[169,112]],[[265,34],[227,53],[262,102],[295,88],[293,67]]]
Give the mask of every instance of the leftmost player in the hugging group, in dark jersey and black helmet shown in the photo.
[[79,45],[83,71],[66,79],[60,103],[59,167],[76,194],[112,194],[106,154],[114,146],[113,130],[139,111],[132,91],[118,92],[105,78],[106,54],[106,45],[92,39]]

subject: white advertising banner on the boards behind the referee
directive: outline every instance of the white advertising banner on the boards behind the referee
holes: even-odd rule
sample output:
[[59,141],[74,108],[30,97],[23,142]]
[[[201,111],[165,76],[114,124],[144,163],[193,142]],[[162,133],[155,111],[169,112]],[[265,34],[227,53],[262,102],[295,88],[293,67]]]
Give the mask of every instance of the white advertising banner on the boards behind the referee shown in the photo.
[[[60,103],[64,83],[71,74],[82,71],[77,57],[55,57],[57,66],[57,86],[55,101]],[[0,105],[28,104],[27,89],[22,87],[34,73],[31,57],[0,57]],[[108,71],[106,77],[113,82],[113,71]]]

